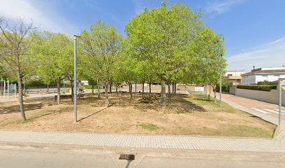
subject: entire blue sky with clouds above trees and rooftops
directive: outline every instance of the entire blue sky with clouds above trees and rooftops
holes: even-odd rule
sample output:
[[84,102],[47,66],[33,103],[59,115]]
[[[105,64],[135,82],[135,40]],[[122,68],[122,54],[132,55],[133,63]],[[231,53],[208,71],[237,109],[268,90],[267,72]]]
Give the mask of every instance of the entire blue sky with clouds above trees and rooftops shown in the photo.
[[[285,64],[284,0],[180,1],[203,11],[205,26],[224,34],[228,70]],[[177,3],[176,0],[168,0]],[[31,18],[41,30],[79,34],[100,19],[120,34],[131,17],[161,0],[1,0],[0,15],[10,20]]]

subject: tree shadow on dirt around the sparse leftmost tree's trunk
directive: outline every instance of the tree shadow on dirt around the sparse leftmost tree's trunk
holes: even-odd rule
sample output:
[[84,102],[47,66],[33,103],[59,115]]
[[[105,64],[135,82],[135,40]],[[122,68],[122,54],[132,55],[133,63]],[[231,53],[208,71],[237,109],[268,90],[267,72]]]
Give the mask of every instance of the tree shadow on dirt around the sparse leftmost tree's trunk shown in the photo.
[[[42,103],[38,104],[24,104],[24,111],[33,111],[37,109],[41,109],[43,107]],[[7,113],[19,113],[20,112],[20,106],[14,105],[14,106],[1,106],[0,107],[0,115],[1,114],[7,114]]]

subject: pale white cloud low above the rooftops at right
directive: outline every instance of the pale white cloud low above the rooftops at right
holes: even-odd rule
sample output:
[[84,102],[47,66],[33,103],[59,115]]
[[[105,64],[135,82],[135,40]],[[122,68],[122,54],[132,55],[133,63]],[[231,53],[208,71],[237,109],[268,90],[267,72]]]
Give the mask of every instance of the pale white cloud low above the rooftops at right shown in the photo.
[[244,69],[250,71],[252,66],[277,67],[285,64],[285,37],[279,38],[254,50],[227,57],[228,70]]

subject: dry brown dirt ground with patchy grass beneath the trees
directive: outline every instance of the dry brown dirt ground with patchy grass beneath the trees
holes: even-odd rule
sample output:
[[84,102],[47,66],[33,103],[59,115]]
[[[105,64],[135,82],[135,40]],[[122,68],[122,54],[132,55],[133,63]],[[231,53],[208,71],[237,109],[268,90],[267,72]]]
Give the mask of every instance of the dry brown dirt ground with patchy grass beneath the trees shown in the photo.
[[22,122],[17,102],[0,104],[0,129],[100,132],[119,134],[175,134],[222,137],[271,138],[275,125],[228,104],[219,107],[203,94],[176,95],[165,108],[154,94],[111,94],[110,107],[96,95],[78,100],[78,123],[73,123],[73,102],[53,99],[24,102],[27,121]]

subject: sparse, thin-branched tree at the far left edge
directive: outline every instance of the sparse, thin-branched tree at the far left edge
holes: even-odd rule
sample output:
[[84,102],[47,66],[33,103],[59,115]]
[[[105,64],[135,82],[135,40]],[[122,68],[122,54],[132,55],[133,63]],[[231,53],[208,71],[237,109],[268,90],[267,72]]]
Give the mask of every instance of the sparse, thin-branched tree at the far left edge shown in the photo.
[[0,18],[0,62],[2,73],[10,78],[17,78],[19,104],[22,120],[26,120],[22,97],[22,79],[29,74],[34,62],[31,57],[33,24],[25,24],[23,20],[9,22]]

